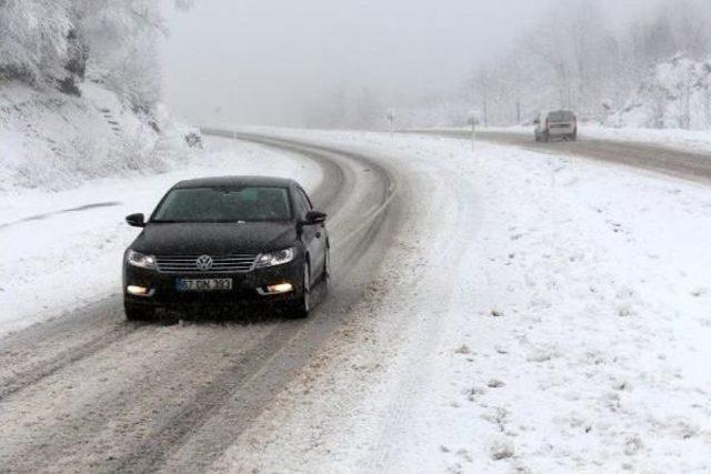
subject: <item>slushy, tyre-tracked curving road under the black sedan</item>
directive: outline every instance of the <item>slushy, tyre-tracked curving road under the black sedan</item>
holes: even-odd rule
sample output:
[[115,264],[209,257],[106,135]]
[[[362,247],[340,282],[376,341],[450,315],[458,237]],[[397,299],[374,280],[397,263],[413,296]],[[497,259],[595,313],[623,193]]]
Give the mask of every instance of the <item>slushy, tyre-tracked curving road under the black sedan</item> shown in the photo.
[[[254,134],[314,160],[334,278],[306,321],[130,324],[117,295],[0,340],[0,472],[207,468],[368,297],[408,190],[368,157]],[[118,271],[118,270],[117,270]]]

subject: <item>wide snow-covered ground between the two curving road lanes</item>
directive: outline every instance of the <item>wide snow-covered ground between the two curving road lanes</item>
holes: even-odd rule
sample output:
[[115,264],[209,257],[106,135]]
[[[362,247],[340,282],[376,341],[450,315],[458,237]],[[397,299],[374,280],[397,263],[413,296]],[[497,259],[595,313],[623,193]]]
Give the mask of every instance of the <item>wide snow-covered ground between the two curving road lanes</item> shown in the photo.
[[260,472],[711,468],[711,190],[458,140],[307,135],[408,170],[395,250],[214,465]]

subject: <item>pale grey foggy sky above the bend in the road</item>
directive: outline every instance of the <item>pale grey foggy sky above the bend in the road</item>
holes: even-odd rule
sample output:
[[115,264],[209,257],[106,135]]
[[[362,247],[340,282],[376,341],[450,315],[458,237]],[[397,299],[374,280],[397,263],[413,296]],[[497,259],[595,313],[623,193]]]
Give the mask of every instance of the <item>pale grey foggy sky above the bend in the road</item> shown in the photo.
[[[166,2],[167,102],[192,123],[326,127],[333,98],[367,91],[398,107],[463,88],[557,1]],[[603,3],[614,23],[654,2]]]

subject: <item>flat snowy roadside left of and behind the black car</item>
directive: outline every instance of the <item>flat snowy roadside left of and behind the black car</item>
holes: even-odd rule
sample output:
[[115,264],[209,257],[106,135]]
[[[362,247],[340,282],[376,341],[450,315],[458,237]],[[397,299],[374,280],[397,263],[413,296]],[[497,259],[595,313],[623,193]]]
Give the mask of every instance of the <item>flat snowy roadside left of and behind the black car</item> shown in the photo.
[[138,234],[123,218],[149,214],[177,181],[222,174],[269,174],[312,189],[317,164],[270,149],[207,139],[207,150],[162,174],[88,181],[46,192],[0,195],[0,334],[120,292],[121,259]]

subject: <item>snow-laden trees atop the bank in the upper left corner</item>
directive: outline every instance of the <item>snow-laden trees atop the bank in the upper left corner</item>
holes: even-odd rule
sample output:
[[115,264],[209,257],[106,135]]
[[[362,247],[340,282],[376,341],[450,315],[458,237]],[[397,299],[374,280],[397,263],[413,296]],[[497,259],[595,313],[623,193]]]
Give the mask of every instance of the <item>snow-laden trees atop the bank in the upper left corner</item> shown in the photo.
[[150,114],[166,31],[156,0],[0,0],[0,79],[79,93],[76,82],[87,77]]

